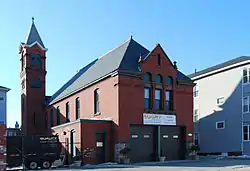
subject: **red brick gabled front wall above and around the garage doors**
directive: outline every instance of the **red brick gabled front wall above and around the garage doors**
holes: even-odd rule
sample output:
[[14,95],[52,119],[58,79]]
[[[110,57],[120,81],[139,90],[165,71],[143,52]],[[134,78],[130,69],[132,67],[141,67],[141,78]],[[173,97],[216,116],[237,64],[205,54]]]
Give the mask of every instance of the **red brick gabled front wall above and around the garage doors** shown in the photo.
[[[161,66],[157,66],[157,54],[161,55]],[[176,84],[176,69],[160,46],[157,46],[149,57],[141,64],[142,71],[150,72],[153,77],[152,99],[154,102],[154,89],[163,87],[163,101],[165,90],[173,90],[174,110],[176,111],[177,125],[185,125],[187,132],[193,133],[193,87]],[[157,74],[163,76],[162,85],[155,84]],[[167,86],[167,76],[173,78],[173,88]],[[143,79],[143,76],[142,76]],[[129,123],[142,124],[144,111],[144,81],[138,77],[119,76],[119,140],[129,140]],[[154,103],[153,103],[154,108]],[[149,111],[150,113],[166,113],[165,111]],[[189,140],[192,138],[189,137]]]

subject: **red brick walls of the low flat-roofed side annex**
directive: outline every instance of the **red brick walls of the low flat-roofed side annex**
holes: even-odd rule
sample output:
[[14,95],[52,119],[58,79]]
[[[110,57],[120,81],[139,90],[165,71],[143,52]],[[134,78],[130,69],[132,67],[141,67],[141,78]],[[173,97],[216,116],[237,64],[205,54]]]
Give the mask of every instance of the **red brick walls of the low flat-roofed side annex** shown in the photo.
[[[96,133],[106,133],[107,138],[107,148],[106,148],[106,160],[111,161],[113,158],[113,150],[114,150],[114,143],[113,143],[113,123],[112,122],[105,122],[105,121],[86,121],[80,123],[77,121],[75,123],[65,124],[63,126],[58,126],[52,129],[54,135],[59,136],[59,141],[62,144],[62,153],[70,152],[70,131],[76,131],[76,147],[81,152],[81,150],[86,148],[95,148],[96,141],[95,135]],[[64,135],[66,132],[66,135]],[[69,147],[66,147],[66,138],[69,140]],[[82,149],[83,148],[83,149]],[[66,150],[66,151],[65,151]],[[84,163],[97,163],[97,159],[95,157],[91,158],[84,158]]]

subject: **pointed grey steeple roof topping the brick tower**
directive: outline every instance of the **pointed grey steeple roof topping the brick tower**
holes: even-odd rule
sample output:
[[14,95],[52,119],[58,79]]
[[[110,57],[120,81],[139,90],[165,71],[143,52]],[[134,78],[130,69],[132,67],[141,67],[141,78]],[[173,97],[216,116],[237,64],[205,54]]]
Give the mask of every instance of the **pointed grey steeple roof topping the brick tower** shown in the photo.
[[34,23],[34,17],[32,17],[32,24],[31,28],[29,30],[28,36],[25,40],[25,45],[33,45],[34,43],[39,43],[39,45],[45,49],[45,46],[43,44],[43,41],[36,29],[35,23]]

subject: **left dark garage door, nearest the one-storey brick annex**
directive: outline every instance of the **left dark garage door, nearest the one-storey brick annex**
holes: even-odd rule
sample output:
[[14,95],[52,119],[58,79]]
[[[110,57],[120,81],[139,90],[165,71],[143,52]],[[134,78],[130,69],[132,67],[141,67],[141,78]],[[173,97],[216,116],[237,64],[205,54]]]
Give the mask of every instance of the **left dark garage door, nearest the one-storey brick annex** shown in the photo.
[[155,160],[154,126],[130,126],[130,159],[131,162],[146,162]]

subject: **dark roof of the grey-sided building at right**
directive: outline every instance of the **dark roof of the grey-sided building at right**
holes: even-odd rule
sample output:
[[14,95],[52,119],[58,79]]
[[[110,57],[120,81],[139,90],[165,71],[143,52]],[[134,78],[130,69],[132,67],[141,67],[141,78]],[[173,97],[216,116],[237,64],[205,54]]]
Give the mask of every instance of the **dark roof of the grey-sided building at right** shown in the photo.
[[230,65],[233,65],[233,64],[237,64],[239,62],[247,61],[247,60],[250,60],[250,56],[241,56],[241,57],[238,57],[238,58],[223,62],[221,64],[209,67],[207,69],[198,71],[196,73],[190,74],[190,75],[188,75],[188,77],[190,77],[190,78],[197,77],[199,75],[206,74],[208,72],[215,71],[217,69],[221,69],[221,68],[224,68],[224,67],[227,67],[227,66],[230,66]]

